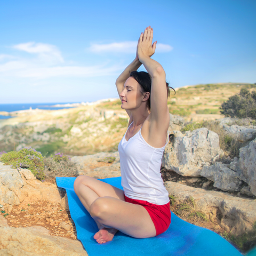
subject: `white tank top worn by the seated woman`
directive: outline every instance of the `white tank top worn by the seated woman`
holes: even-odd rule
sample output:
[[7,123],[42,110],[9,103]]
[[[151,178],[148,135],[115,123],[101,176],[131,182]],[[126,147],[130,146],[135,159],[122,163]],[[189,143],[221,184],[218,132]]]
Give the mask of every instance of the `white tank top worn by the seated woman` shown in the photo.
[[125,196],[152,204],[167,204],[169,194],[160,169],[168,141],[164,147],[154,148],[143,139],[141,129],[128,141],[125,135],[118,145]]

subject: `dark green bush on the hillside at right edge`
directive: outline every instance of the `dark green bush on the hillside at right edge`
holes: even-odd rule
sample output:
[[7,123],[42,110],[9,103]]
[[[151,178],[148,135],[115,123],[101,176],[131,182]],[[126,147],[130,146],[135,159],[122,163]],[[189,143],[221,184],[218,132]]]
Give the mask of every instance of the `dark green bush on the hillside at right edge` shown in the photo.
[[223,102],[221,109],[221,114],[225,116],[256,119],[256,91],[250,93],[247,89],[241,89],[239,94]]

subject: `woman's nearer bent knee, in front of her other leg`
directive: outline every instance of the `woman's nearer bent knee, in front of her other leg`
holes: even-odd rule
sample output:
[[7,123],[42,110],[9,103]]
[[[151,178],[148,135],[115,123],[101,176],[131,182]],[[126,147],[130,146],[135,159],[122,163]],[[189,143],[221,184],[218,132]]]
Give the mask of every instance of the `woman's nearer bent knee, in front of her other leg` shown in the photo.
[[90,214],[92,218],[103,220],[108,212],[108,197],[99,197],[90,206]]

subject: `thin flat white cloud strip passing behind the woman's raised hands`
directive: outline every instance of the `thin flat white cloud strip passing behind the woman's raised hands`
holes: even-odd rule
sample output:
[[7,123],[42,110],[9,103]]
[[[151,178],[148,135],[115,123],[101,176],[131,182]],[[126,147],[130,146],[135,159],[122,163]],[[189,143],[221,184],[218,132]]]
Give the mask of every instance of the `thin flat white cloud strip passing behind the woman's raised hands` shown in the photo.
[[[100,52],[122,52],[135,53],[137,47],[136,41],[126,41],[121,43],[110,44],[92,44],[89,50],[95,53]],[[173,49],[171,45],[157,43],[156,52],[170,52]]]

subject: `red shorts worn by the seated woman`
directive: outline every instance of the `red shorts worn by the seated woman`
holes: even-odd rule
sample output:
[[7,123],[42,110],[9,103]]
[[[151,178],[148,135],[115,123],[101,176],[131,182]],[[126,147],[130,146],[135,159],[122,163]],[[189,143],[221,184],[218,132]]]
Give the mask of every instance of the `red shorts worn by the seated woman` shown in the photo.
[[151,204],[147,201],[132,199],[124,195],[125,202],[139,204],[149,213],[156,228],[156,236],[164,233],[171,223],[170,202],[164,205]]

